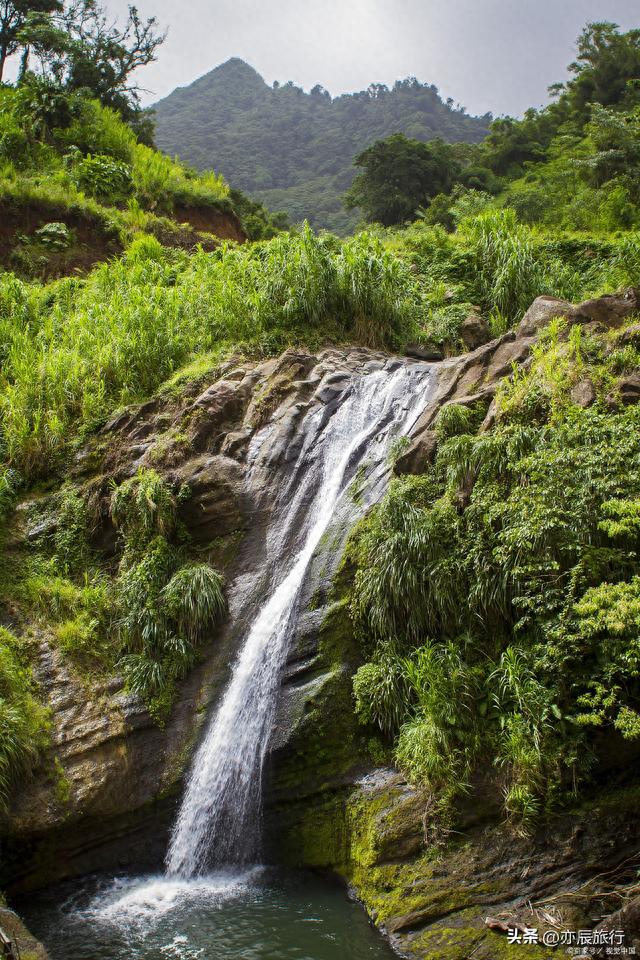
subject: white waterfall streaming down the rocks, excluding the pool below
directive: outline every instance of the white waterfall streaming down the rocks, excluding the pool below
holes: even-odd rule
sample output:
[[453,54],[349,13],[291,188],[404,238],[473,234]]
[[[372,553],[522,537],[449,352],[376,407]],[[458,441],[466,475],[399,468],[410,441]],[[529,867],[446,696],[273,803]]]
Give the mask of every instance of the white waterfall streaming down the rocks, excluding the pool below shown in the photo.
[[[306,571],[330,525],[353,519],[356,507],[343,494],[358,470],[386,473],[389,442],[415,423],[430,376],[420,364],[356,374],[340,402],[317,404],[303,417],[299,453],[267,533],[270,595],[195,754],[167,854],[169,876],[194,877],[212,864],[258,855],[262,768]],[[267,429],[254,438],[250,461],[258,463],[268,448]]]

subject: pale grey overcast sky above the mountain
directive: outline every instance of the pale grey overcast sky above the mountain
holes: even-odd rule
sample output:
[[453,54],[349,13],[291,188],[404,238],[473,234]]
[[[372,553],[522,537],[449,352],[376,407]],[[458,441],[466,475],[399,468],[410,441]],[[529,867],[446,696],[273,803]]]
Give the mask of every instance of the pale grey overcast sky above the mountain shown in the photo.
[[[127,0],[103,0],[110,12]],[[137,0],[169,30],[139,72],[151,103],[229,57],[333,95],[416,76],[471,113],[521,114],[566,77],[589,20],[640,26],[640,0]]]

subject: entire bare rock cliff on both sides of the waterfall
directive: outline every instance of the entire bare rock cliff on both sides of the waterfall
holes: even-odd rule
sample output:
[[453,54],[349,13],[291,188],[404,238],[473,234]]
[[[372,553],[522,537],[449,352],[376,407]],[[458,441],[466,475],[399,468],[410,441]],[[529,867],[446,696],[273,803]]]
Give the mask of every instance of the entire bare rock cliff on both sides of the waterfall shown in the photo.
[[[570,319],[615,326],[637,306],[630,292],[571,308]],[[536,301],[517,331],[433,364],[424,412],[396,471],[419,471],[433,457],[433,424],[446,403],[484,405],[488,427],[498,383],[527,363],[537,332],[558,309],[569,312]],[[362,349],[289,350],[266,362],[229,362],[120,412],[80,451],[73,481],[98,504],[95,542],[107,561],[115,543],[106,508],[111,480],[153,466],[176,489],[188,484],[181,520],[224,568],[230,615],[181,684],[163,727],[119,677],[89,681],[41,641],[36,672],[53,710],[52,746],[4,825],[2,884],[24,890],[98,868],[160,862],[202,722],[268,589],[265,530],[275,485],[299,449],[300,424],[312,409],[330,416],[354,377],[413,362]],[[270,443],[256,463],[252,440],[265,430]],[[354,515],[380,496],[384,482],[380,474],[358,491]],[[15,549],[42,535],[32,504],[18,516]],[[625,880],[624,861],[640,846],[630,817],[635,794],[594,801],[524,838],[498,825],[490,798],[499,789],[488,782],[487,803],[461,810],[460,835],[434,847],[428,798],[393,771],[371,773],[353,715],[359,653],[344,600],[349,570],[340,567],[347,534],[348,524],[338,523],[325,537],[301,598],[267,771],[267,853],[341,872],[410,955],[462,958],[473,949],[477,957],[509,956],[504,934],[489,930],[486,916],[495,914],[498,928],[504,917],[533,925],[526,907],[533,897],[542,927],[545,915],[554,916],[554,898],[588,885],[601,864]],[[595,909],[593,896],[580,902],[580,917],[565,904],[563,918],[578,922]],[[600,912],[611,912],[610,905],[604,897]]]

